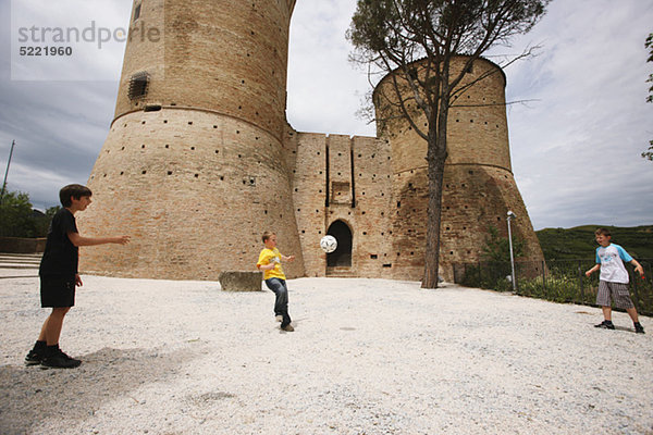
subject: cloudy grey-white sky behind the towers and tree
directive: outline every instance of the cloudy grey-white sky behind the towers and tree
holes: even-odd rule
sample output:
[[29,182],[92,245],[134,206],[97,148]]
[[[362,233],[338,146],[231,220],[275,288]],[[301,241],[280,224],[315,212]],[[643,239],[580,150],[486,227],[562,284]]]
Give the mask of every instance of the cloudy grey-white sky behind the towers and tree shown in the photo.
[[[287,117],[298,130],[375,134],[355,115],[370,87],[347,61],[355,3],[297,1]],[[15,139],[8,186],[28,192],[36,208],[57,204],[61,186],[88,179],[113,117],[131,4],[0,0],[0,169],[3,175]],[[96,38],[75,46],[75,59],[20,55],[20,47],[36,46],[20,40],[21,27],[94,22]],[[98,47],[100,27],[112,34]],[[490,53],[502,63],[541,46],[506,69],[508,101],[528,101],[507,111],[513,172],[535,229],[653,224],[653,162],[640,157],[653,139],[653,104],[645,103],[653,63],[644,48],[652,32],[651,0],[553,0],[531,33]]]

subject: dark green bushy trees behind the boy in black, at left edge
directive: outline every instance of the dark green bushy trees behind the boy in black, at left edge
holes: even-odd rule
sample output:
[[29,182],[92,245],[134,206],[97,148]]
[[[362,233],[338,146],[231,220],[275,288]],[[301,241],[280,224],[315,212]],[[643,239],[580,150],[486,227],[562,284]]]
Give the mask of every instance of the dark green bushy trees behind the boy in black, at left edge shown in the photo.
[[45,237],[52,216],[59,208],[50,208],[46,214],[35,212],[29,195],[10,191],[0,204],[1,237]]

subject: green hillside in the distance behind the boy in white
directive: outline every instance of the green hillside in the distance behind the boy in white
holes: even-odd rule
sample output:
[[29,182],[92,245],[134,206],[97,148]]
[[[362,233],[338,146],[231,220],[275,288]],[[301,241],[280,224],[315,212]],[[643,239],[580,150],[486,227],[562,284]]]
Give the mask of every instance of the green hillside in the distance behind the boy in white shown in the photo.
[[[575,228],[544,228],[535,232],[546,260],[594,259],[599,245],[594,231],[602,225]],[[612,241],[620,245],[636,259],[653,259],[653,225],[620,227],[604,226],[612,233]]]

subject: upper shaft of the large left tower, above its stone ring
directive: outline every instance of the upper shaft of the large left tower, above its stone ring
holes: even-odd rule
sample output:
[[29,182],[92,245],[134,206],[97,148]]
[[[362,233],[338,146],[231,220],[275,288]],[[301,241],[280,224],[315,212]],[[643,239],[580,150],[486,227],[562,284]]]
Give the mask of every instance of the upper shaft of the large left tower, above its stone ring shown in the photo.
[[[292,5],[279,0],[136,0],[137,5],[141,10],[130,26],[116,116],[146,104],[201,108],[282,139]],[[159,38],[141,37],[141,29],[152,28]],[[130,79],[137,72],[150,74],[150,89],[145,98],[131,100]]]

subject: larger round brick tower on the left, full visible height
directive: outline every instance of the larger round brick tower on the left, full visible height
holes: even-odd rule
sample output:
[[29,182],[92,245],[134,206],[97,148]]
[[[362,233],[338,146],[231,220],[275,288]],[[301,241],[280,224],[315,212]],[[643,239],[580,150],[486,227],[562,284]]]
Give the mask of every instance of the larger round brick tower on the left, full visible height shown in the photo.
[[304,274],[282,145],[294,0],[135,0],[115,117],[90,174],[87,273],[214,279],[276,232]]

